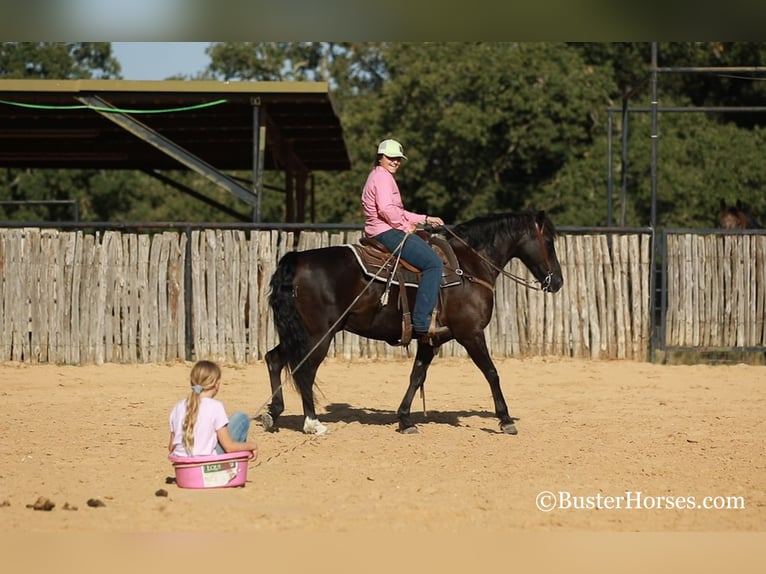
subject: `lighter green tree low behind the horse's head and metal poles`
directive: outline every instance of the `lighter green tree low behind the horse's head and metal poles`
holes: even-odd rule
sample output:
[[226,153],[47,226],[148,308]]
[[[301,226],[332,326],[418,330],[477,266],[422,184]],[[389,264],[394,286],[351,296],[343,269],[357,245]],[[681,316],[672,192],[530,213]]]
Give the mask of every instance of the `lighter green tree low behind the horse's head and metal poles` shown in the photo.
[[[721,125],[702,113],[663,113],[658,125],[659,227],[716,227],[721,199],[729,204],[740,199],[754,213],[766,213],[762,192],[766,165],[760,161],[763,130]],[[624,206],[620,166],[618,158],[612,158],[614,224],[619,224],[623,207],[626,225],[648,226],[651,222],[651,141],[650,115],[631,114]],[[533,203],[549,211],[559,225],[606,225],[608,159],[605,143],[595,143],[534,194]]]

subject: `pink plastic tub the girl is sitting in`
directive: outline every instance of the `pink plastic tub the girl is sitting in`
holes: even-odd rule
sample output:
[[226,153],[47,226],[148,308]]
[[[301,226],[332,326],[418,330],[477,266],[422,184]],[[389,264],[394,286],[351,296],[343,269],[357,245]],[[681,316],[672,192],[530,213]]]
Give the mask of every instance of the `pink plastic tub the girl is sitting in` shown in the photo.
[[250,454],[239,451],[168,458],[176,471],[176,484],[181,488],[225,488],[245,485]]

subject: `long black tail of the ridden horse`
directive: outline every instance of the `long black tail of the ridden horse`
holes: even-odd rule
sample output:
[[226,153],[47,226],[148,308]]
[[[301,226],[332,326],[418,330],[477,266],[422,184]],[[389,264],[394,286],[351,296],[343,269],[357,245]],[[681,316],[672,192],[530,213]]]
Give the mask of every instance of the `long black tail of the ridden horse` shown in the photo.
[[299,377],[301,371],[308,371],[306,368],[308,365],[302,365],[301,361],[308,360],[309,352],[306,327],[295,305],[293,282],[297,260],[297,251],[290,251],[279,260],[277,270],[271,276],[269,294],[269,305],[279,334],[279,344],[293,372],[293,377]]

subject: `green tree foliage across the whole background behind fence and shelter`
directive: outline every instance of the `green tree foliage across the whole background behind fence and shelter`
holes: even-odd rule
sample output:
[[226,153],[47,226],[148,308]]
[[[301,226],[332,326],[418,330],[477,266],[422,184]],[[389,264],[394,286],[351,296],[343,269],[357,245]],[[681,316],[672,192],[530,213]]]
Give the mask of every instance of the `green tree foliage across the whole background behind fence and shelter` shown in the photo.
[[[545,209],[558,225],[651,221],[651,116],[613,114],[623,99],[650,100],[649,43],[213,43],[198,79],[326,81],[352,162],[312,174],[319,222],[361,223],[361,186],[377,143],[399,139],[397,176],[407,207],[448,222],[513,209]],[[665,42],[666,67],[759,66],[766,44]],[[3,43],[0,77],[119,77],[108,43]],[[762,105],[763,75],[662,73],[661,106]],[[658,226],[711,227],[719,202],[738,199],[766,217],[763,113],[662,113],[657,146]],[[627,163],[620,163],[627,129]],[[626,189],[621,189],[625,169]],[[174,180],[227,210],[232,194],[189,172]],[[243,180],[250,174],[236,174]],[[264,221],[285,220],[284,174],[265,174]],[[249,183],[246,183],[249,185]],[[231,221],[233,216],[138,172],[6,170],[0,200],[77,199],[87,220]],[[5,218],[66,218],[65,207],[0,207]],[[307,206],[307,215],[311,206]],[[236,219],[236,218],[234,218]]]

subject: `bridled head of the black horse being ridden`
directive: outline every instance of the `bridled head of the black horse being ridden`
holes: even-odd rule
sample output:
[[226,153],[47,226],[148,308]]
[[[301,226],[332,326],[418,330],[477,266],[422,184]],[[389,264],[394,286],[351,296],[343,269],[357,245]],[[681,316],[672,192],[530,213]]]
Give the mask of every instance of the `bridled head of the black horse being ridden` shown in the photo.
[[532,214],[533,225],[519,243],[517,256],[540,282],[543,291],[555,293],[564,285],[556,255],[556,229],[544,211]]

